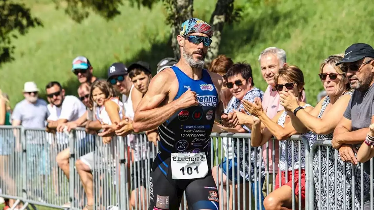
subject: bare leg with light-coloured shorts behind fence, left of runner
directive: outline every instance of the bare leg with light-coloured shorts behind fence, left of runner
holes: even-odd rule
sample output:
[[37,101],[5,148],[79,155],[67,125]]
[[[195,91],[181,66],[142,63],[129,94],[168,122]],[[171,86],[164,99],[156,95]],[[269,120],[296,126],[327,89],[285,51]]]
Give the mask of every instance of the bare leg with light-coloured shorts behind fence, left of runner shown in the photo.
[[77,173],[80,177],[80,181],[82,182],[83,189],[86,193],[87,198],[87,207],[93,207],[93,152],[83,155],[80,157],[79,160],[75,162],[75,167],[77,169]]

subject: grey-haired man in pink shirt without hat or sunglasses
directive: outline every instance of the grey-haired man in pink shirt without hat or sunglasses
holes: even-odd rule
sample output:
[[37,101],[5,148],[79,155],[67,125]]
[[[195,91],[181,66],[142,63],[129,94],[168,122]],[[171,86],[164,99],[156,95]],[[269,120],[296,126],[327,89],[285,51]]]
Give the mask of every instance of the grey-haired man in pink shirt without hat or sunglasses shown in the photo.
[[[263,109],[266,111],[266,115],[269,118],[274,118],[276,113],[284,110],[283,106],[279,104],[279,94],[275,90],[274,75],[282,67],[287,66],[286,63],[286,52],[277,47],[268,47],[261,52],[258,57],[258,62],[260,62],[261,75],[268,84],[266,91],[264,92],[264,98],[262,101]],[[306,101],[305,91],[303,90],[303,101]],[[272,156],[273,151],[273,142],[269,141],[263,145],[263,158],[265,163],[265,168],[269,169],[269,182],[267,178],[265,179],[263,185],[264,196],[267,193],[273,191],[274,184],[273,179],[275,179],[276,174],[278,173],[278,159],[279,159],[279,144],[278,141],[274,142],[275,148],[275,158]],[[267,156],[267,157],[266,157]],[[274,159],[274,160],[273,160]],[[269,167],[267,166],[267,160],[269,160]],[[273,164],[274,161],[274,164]],[[274,168],[273,168],[274,167]],[[275,181],[275,180],[274,180]],[[269,191],[267,192],[267,187]]]

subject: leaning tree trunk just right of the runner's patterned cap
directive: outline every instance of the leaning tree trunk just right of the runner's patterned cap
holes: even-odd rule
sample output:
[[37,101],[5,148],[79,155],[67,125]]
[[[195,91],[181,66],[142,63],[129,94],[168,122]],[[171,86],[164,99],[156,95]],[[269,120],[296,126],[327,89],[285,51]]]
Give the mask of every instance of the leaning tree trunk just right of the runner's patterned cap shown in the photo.
[[212,13],[210,24],[214,29],[211,46],[205,57],[205,62],[210,63],[218,56],[218,50],[221,43],[221,33],[224,24],[229,21],[229,17],[234,9],[234,0],[217,0],[214,12]]

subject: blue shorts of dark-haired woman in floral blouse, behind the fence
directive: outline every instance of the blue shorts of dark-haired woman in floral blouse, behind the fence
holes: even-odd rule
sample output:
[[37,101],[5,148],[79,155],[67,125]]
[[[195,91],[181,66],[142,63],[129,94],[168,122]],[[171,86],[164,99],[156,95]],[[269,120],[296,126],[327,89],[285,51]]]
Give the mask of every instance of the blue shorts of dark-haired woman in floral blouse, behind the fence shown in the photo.
[[[227,168],[226,164],[229,162],[229,167]],[[234,185],[237,185],[237,183],[243,183],[243,177],[237,174],[237,158],[234,157],[233,159],[223,160],[223,162],[220,164],[220,167],[223,170],[223,173],[229,177],[229,179],[233,182]],[[233,179],[233,173],[232,170],[234,170],[234,179]],[[239,180],[238,180],[239,178]],[[265,209],[264,207],[264,194],[262,193],[262,188],[264,185],[265,177],[261,178],[261,182],[257,182],[257,189],[255,189],[255,182],[251,182],[251,191],[252,195],[255,196],[255,191],[257,191],[257,209],[260,209],[261,204],[261,209]],[[247,180],[245,182],[248,182]],[[260,184],[260,186],[258,186]],[[258,192],[258,188],[260,188],[260,193]]]

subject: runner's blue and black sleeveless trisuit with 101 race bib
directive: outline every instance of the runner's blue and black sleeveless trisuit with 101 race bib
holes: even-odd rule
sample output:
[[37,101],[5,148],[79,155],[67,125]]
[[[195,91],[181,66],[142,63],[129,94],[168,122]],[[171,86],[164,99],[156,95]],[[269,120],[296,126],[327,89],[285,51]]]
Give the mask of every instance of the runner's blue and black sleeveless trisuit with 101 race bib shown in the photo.
[[178,67],[171,68],[179,83],[174,100],[190,88],[199,105],[178,110],[158,127],[159,151],[151,169],[148,210],[179,209],[184,191],[188,210],[218,210],[209,154],[218,92],[207,70],[202,70],[200,80],[193,80]]

